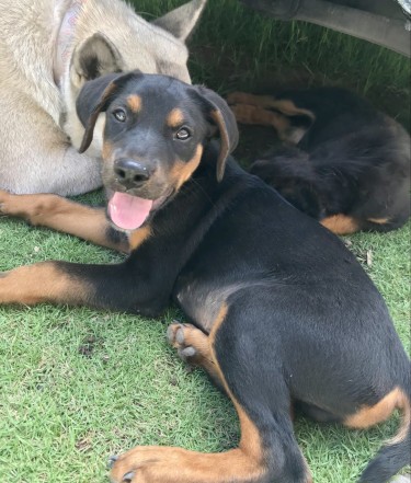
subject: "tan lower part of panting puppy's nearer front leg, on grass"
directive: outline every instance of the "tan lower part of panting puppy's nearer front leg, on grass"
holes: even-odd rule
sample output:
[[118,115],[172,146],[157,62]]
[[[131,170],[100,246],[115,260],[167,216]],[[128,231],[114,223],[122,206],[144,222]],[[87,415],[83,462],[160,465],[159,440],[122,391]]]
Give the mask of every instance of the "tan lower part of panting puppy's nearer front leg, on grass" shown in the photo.
[[91,286],[59,271],[56,262],[21,266],[0,278],[0,303],[83,304],[91,294]]

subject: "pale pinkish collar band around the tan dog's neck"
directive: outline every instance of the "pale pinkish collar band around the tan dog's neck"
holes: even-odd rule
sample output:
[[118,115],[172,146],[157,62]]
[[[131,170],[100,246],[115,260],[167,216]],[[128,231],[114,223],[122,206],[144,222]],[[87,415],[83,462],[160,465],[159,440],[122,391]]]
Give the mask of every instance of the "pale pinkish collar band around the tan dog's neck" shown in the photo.
[[77,21],[85,2],[87,0],[71,0],[58,30],[53,67],[54,80],[58,87],[70,60]]

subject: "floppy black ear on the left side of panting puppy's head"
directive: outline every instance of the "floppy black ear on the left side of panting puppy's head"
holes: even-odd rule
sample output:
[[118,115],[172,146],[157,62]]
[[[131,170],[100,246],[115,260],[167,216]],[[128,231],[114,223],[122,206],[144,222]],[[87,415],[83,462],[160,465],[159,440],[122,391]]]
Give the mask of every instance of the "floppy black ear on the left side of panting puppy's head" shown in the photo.
[[91,145],[99,114],[106,111],[113,96],[117,94],[129,80],[141,76],[140,71],[124,74],[109,73],[107,76],[85,82],[76,101],[77,115],[85,127],[79,152],[84,152]]

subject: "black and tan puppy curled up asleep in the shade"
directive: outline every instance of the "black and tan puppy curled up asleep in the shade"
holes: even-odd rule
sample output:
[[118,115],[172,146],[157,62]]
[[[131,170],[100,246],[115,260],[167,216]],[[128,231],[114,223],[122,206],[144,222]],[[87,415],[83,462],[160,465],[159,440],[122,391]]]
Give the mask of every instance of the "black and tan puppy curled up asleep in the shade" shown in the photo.
[[364,99],[339,88],[228,97],[243,124],[284,141],[251,165],[334,233],[389,231],[410,216],[410,137]]

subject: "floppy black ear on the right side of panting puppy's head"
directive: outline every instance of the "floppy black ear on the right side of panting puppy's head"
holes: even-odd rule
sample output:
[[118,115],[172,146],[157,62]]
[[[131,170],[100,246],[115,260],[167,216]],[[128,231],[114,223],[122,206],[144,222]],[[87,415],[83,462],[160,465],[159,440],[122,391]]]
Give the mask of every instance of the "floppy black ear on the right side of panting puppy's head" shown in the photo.
[[205,105],[208,120],[217,126],[220,134],[220,151],[217,160],[217,180],[221,181],[226,169],[226,161],[232,152],[239,139],[236,116],[232,111],[218,94],[204,87],[195,87],[197,95],[201,96]]

